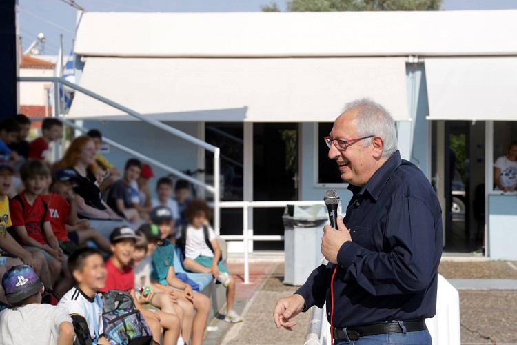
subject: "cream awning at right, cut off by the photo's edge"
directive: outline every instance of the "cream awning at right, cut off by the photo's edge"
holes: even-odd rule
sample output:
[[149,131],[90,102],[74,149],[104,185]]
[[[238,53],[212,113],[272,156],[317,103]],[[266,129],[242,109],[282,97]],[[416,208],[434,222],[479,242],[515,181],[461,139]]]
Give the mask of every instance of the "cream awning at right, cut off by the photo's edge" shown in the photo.
[[432,120],[517,120],[517,57],[425,58]]

